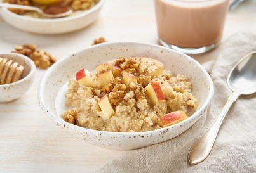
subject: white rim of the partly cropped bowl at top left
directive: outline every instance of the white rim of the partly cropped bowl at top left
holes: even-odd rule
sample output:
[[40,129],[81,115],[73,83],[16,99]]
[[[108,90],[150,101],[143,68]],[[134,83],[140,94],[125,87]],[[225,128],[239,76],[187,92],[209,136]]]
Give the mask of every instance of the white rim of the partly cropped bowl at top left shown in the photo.
[[[29,17],[29,16],[22,16],[22,15],[17,15],[11,11],[9,11],[7,8],[2,8],[2,10],[7,13],[8,15],[13,16],[14,18],[20,18],[21,20],[27,20],[27,21],[32,21],[32,22],[46,22],[46,23],[50,23],[50,22],[63,22],[63,21],[69,21],[69,20],[76,20],[77,18],[81,18],[83,16],[87,16],[90,13],[93,13],[94,11],[97,11],[98,9],[100,9],[102,7],[102,5],[104,4],[105,0],[100,0],[95,6],[93,6],[92,8],[83,11],[82,13],[79,13],[77,15],[74,16],[67,16],[67,17],[63,17],[63,18],[33,18],[33,17]],[[0,9],[1,10],[1,9]]]

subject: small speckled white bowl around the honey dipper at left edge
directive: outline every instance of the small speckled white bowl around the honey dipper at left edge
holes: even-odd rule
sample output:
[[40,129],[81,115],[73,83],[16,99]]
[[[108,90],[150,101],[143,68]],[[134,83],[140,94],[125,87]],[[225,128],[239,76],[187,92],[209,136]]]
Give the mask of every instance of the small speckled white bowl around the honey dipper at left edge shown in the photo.
[[20,98],[25,94],[34,81],[36,65],[30,58],[22,54],[6,53],[0,54],[1,58],[8,58],[17,61],[24,66],[23,78],[11,84],[0,84],[0,103],[6,103]]

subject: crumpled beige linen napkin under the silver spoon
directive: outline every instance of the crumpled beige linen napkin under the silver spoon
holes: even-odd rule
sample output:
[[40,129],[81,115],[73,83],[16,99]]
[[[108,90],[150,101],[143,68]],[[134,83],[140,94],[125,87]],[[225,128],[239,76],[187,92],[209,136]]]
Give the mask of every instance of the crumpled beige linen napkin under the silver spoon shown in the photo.
[[[198,134],[212,124],[231,95],[226,79],[243,55],[256,50],[256,29],[232,35],[220,48],[210,75],[215,96],[210,113],[174,139],[133,150],[107,163],[96,172],[256,172],[256,94],[240,96],[220,127],[212,152],[206,160],[191,166],[187,153]],[[256,68],[256,65],[255,65]]]

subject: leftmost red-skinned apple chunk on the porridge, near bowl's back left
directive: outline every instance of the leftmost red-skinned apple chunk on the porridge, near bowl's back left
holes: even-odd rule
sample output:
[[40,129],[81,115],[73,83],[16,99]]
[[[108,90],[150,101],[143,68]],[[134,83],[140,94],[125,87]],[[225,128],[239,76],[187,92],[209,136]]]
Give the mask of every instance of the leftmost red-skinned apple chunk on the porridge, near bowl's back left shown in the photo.
[[97,87],[95,75],[91,74],[85,68],[76,72],[76,80],[77,82],[79,82],[79,84],[81,84],[81,86],[93,87],[93,88]]

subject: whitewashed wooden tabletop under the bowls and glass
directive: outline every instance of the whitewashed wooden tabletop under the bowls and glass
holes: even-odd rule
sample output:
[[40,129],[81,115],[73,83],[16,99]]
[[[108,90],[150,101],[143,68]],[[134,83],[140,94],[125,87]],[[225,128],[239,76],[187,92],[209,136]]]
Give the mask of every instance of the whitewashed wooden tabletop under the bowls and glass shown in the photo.
[[[256,1],[246,0],[228,13],[222,41],[239,30],[255,26],[255,11]],[[101,36],[107,41],[158,44],[153,1],[107,0],[97,21],[89,27],[60,35],[23,32],[8,25],[0,16],[0,53],[9,53],[13,46],[29,43],[60,60],[90,46]],[[192,57],[199,63],[214,60],[217,49]],[[129,152],[87,144],[44,115],[37,103],[37,88],[45,72],[36,70],[36,80],[22,98],[0,104],[0,172],[53,172],[53,169],[55,172],[61,169],[93,172]]]

